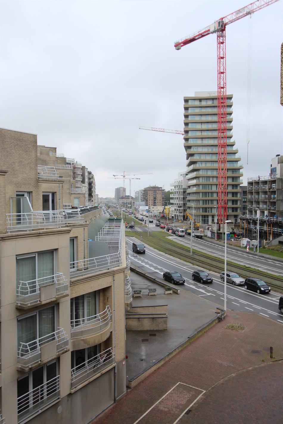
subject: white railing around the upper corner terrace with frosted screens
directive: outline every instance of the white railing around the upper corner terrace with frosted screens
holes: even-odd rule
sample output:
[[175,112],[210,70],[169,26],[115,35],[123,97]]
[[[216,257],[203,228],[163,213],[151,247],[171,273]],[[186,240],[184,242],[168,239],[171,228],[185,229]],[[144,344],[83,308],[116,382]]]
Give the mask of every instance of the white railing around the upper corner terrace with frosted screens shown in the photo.
[[95,241],[104,241],[112,250],[117,249],[117,252],[70,262],[70,277],[82,276],[84,274],[121,266],[122,229],[123,220],[107,221],[98,236],[95,237]]

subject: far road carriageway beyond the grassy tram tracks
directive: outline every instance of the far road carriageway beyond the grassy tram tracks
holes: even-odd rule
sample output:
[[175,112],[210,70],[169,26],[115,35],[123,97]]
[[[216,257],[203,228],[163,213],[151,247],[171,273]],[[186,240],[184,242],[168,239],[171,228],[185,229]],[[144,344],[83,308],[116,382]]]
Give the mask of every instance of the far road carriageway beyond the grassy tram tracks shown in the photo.
[[[147,220],[148,218],[145,219]],[[155,226],[155,223],[156,221],[154,220],[153,223],[149,224],[149,230],[162,231],[159,227]],[[175,227],[177,227],[176,223]],[[138,227],[136,227],[136,229],[137,228]],[[146,231],[146,229],[147,226],[143,226],[142,230]],[[174,241],[191,247],[191,236],[186,235],[185,237],[177,237],[174,235],[173,237]],[[202,239],[197,239],[193,237],[193,248],[201,252],[224,259],[224,243],[215,242],[214,240],[210,240],[207,237]],[[259,271],[265,271],[268,273],[275,274],[277,276],[283,276],[283,261],[280,261],[280,259],[276,259],[274,257],[267,257],[261,254],[257,255],[253,252],[248,253],[247,250],[229,245],[227,246],[227,260],[237,262],[241,265],[256,268]]]

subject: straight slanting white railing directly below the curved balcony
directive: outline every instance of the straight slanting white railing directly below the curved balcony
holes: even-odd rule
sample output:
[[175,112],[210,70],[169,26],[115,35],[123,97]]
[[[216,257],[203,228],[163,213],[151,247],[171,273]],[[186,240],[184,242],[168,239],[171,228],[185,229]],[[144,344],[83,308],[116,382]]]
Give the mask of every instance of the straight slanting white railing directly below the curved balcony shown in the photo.
[[101,372],[104,368],[115,362],[112,348],[104,350],[84,363],[71,369],[71,388],[75,388],[84,381]]

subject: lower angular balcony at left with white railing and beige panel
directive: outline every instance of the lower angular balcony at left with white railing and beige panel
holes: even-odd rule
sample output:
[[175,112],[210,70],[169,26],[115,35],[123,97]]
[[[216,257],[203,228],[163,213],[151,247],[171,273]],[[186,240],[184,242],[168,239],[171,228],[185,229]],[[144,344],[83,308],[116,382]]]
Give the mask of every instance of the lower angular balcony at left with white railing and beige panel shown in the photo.
[[29,343],[20,342],[17,368],[28,371],[31,366],[45,363],[68,349],[69,339],[62,328]]

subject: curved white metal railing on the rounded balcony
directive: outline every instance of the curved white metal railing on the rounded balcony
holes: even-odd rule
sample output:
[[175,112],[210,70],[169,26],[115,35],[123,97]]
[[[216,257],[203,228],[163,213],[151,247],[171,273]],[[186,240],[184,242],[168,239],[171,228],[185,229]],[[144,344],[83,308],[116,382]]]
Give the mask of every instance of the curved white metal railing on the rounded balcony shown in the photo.
[[71,320],[71,338],[89,337],[101,333],[112,321],[112,311],[109,305],[103,312],[80,319]]

